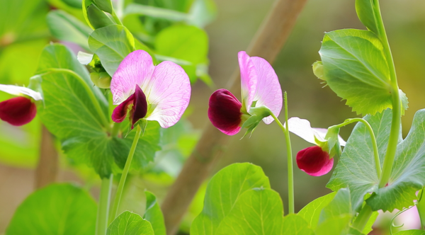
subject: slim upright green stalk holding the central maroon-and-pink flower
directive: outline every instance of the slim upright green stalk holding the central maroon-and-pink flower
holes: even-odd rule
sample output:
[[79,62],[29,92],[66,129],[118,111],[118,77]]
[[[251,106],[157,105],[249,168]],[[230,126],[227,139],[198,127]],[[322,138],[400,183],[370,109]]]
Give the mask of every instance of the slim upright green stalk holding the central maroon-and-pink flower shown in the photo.
[[288,158],[288,212],[289,214],[295,213],[295,206],[294,206],[294,167],[293,167],[293,157],[292,157],[292,148],[290,146],[290,137],[289,137],[289,130],[288,130],[288,97],[285,91],[285,120],[286,120],[286,128],[283,127],[282,123],[278,120],[278,117],[271,113],[271,116],[276,120],[276,123],[278,123],[280,129],[283,130],[283,133],[285,133],[285,140],[286,140],[286,155]]

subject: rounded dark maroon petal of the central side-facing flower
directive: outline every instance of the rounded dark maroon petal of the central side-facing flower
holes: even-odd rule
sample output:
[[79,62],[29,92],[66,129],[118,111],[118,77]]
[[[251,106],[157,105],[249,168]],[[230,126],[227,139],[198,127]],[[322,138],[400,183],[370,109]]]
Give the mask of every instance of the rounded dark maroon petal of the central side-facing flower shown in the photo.
[[242,103],[230,91],[219,89],[210,97],[208,117],[212,125],[221,132],[229,135],[237,134],[241,130],[241,108]]

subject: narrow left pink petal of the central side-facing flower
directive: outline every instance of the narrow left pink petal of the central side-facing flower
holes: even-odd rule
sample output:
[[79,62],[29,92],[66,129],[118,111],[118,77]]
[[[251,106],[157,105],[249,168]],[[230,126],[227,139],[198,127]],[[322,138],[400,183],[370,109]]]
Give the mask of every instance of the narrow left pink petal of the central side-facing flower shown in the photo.
[[242,103],[244,103],[246,111],[249,112],[257,87],[257,74],[251,57],[246,52],[237,54],[239,60],[239,69],[241,70],[241,93]]

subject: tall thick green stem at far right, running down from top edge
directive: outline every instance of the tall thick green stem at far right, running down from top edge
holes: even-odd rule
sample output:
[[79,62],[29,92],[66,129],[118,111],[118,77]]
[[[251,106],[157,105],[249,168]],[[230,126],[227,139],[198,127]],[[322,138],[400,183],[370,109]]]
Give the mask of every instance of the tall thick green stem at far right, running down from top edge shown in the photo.
[[400,102],[399,88],[397,85],[397,75],[395,74],[394,61],[392,60],[390,44],[388,43],[387,34],[385,33],[384,23],[380,13],[379,1],[374,0],[374,13],[378,26],[378,37],[382,41],[385,57],[387,59],[388,69],[390,69],[390,85],[392,94],[392,122],[390,139],[388,141],[387,153],[385,154],[384,164],[382,166],[382,175],[379,181],[379,188],[385,187],[391,176],[392,164],[394,164],[395,151],[397,150],[401,117],[402,105]]

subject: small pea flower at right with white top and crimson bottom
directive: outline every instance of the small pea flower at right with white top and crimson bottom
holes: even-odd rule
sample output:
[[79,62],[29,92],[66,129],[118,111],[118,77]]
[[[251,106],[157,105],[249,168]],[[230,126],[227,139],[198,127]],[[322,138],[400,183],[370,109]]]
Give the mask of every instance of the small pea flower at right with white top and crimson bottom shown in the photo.
[[[329,149],[325,139],[328,130],[312,128],[308,120],[299,117],[291,117],[288,120],[288,130],[305,141],[316,144],[316,146],[302,149],[297,153],[298,168],[310,176],[323,176],[329,173],[334,166],[334,158],[329,155],[331,149]],[[340,146],[346,144],[339,135],[338,142]]]

